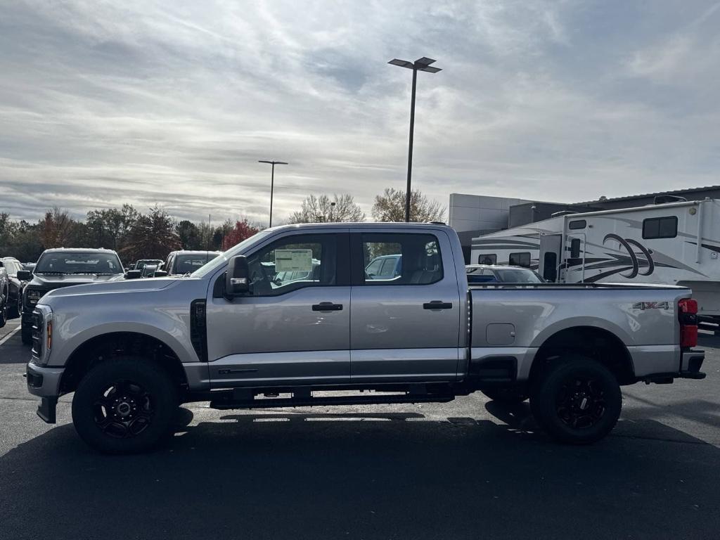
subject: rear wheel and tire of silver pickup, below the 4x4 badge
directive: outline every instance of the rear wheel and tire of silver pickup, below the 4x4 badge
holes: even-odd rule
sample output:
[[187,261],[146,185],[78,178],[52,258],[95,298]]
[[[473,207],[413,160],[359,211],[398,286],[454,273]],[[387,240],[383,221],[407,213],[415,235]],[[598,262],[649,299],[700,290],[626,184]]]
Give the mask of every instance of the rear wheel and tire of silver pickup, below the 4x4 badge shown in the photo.
[[615,427],[622,394],[605,366],[573,354],[539,375],[530,407],[537,423],[558,441],[591,444]]

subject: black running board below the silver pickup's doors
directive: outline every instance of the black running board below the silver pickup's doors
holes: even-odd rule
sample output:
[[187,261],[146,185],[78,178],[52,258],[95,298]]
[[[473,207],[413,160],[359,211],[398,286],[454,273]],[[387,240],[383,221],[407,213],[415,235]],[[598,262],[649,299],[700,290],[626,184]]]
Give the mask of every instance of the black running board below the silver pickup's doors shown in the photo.
[[292,397],[268,397],[265,399],[235,399],[235,395],[222,395],[210,401],[211,409],[261,409],[274,407],[313,407],[319,405],[389,405],[392,403],[446,403],[455,399],[453,394],[391,394],[391,395],[349,395],[312,397],[310,392],[293,393]]

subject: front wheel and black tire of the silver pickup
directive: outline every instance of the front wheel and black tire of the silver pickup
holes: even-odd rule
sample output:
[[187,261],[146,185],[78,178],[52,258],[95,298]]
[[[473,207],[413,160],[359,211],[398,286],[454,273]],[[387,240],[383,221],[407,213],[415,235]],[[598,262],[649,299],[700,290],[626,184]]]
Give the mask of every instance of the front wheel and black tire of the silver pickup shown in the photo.
[[104,454],[150,451],[171,433],[178,392],[161,366],[121,356],[94,367],[73,397],[78,435]]

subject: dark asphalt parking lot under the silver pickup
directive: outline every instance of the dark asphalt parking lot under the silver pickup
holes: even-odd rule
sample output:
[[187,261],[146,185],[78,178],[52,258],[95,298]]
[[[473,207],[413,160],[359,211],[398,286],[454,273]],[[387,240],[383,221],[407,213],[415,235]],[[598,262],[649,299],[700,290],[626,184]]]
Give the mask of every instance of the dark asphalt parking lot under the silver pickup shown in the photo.
[[[717,539],[720,337],[703,381],[636,384],[611,436],[560,446],[528,407],[186,407],[154,454],[95,454],[35,416],[0,330],[1,539]],[[5,339],[6,338],[6,339]],[[189,422],[189,423],[188,423]],[[187,423],[186,426],[181,424]]]

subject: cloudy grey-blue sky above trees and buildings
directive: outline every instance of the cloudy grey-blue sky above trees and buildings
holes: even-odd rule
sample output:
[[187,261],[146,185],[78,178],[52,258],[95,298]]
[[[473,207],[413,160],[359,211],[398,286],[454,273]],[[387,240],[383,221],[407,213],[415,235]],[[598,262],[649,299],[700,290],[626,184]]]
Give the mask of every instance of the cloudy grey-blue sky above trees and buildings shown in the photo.
[[413,186],[575,202],[720,184],[720,4],[9,1],[0,211],[287,217]]

